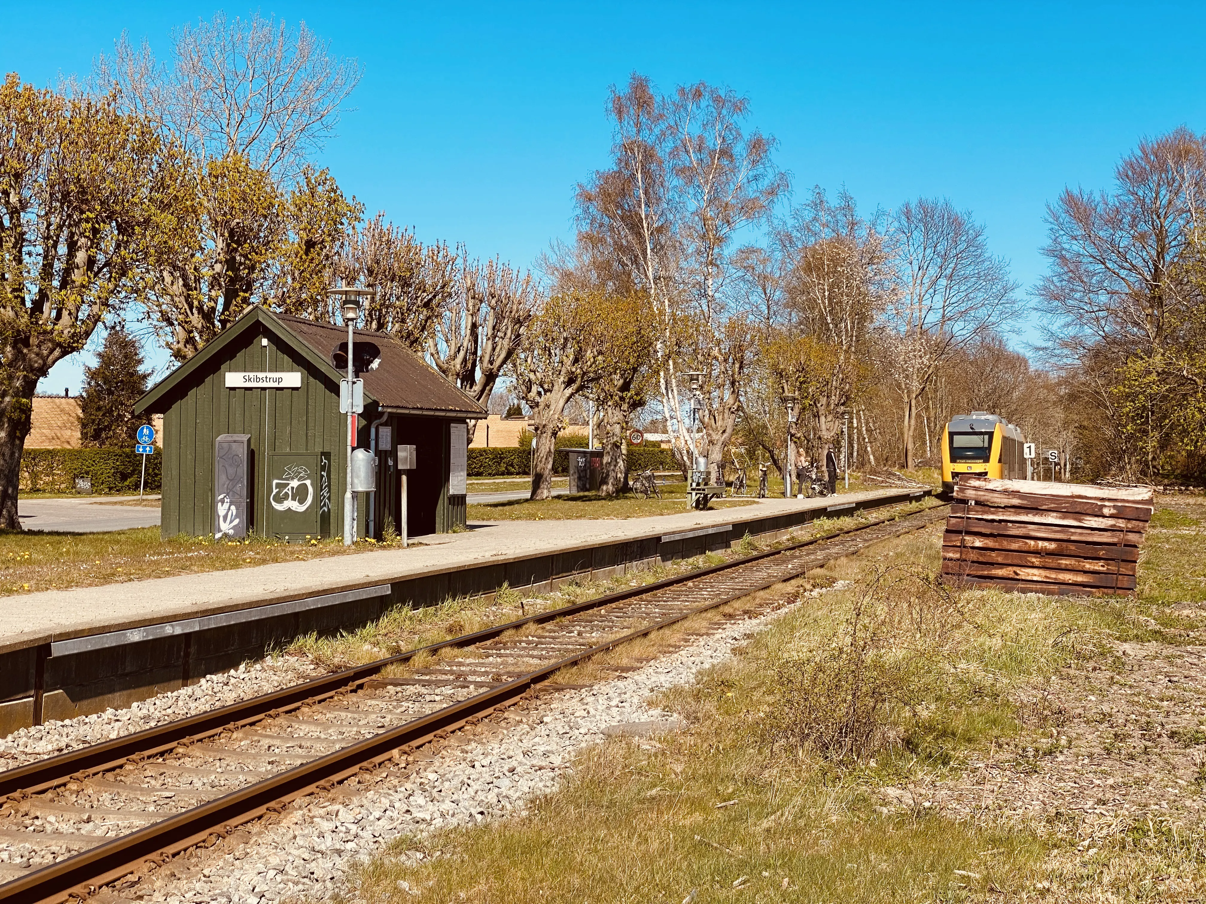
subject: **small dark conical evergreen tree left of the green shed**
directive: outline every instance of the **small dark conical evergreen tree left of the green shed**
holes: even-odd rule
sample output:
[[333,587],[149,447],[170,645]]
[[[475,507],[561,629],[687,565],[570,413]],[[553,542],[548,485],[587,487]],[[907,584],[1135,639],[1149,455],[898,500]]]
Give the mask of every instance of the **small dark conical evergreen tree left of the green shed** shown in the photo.
[[84,446],[129,447],[140,419],[134,403],[147,391],[142,348],[124,324],[109,330],[96,364],[83,370],[80,395],[80,440]]

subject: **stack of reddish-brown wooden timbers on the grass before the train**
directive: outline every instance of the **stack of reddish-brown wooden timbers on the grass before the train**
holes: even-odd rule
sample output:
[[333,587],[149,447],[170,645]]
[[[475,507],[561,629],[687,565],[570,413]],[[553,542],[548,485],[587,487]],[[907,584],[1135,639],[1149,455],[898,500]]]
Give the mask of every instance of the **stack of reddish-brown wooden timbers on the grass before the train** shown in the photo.
[[1132,595],[1151,489],[961,477],[942,539],[948,583]]

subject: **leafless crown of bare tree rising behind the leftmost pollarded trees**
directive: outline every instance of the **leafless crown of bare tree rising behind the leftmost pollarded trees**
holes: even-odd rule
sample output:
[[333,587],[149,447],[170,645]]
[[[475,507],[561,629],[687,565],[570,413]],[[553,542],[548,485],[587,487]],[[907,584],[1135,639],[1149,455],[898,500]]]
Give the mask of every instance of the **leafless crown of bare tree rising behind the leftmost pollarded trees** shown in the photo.
[[329,53],[305,23],[288,28],[256,13],[185,25],[170,63],[122,35],[94,81],[117,86],[124,104],[175,136],[199,159],[239,154],[277,181],[298,175],[322,147],[361,80],[355,59]]

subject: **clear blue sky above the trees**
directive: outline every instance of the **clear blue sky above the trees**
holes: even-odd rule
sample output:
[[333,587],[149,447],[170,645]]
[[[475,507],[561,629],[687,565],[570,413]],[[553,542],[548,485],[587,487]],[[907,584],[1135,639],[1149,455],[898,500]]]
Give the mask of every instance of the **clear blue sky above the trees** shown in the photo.
[[[84,74],[128,30],[160,53],[211,4],[6,4],[5,71]],[[422,240],[531,263],[568,237],[575,182],[607,162],[608,86],[707,80],[748,95],[797,195],[860,205],[946,195],[1030,287],[1044,205],[1106,187],[1144,135],[1201,129],[1206,6],[1143,4],[302,4],[364,80],[320,157],[369,212]],[[1019,347],[1028,336],[1014,336]],[[43,392],[78,389],[89,352]],[[166,362],[153,353],[158,365]]]

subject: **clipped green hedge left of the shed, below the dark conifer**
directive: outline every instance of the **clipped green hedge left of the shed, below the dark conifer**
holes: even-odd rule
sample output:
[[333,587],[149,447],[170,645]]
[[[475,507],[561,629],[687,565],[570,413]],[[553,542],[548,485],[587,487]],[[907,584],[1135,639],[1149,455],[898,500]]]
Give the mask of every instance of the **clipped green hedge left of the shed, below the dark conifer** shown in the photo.
[[[162,488],[163,452],[147,456],[148,491]],[[142,456],[133,448],[27,448],[21,456],[21,488],[74,493],[76,477],[90,477],[93,493],[139,488]]]

